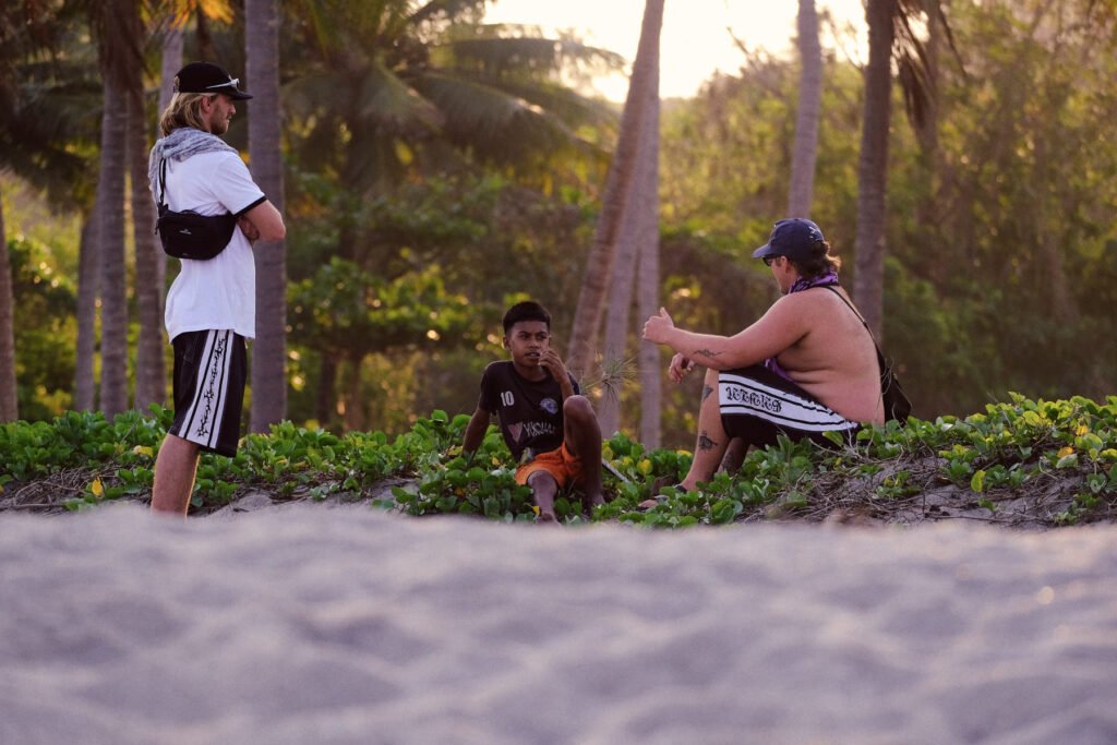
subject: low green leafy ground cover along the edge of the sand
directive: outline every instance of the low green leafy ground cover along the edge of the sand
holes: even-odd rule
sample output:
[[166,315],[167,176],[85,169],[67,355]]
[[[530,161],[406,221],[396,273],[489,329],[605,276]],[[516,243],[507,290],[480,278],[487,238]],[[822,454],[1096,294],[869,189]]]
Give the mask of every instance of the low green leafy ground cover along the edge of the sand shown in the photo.
[[[69,411],[52,422],[0,427],[0,509],[56,513],[151,496],[154,457],[171,412],[125,413],[114,421]],[[285,422],[249,434],[236,458],[206,455],[192,513],[208,514],[248,494],[367,504],[413,516],[462,514],[504,522],[535,518],[517,486],[504,442],[490,429],[467,458],[468,417],[435,411],[410,431],[336,436]],[[617,434],[609,504],[582,515],[558,500],[567,523],[619,520],[649,527],[805,519],[918,523],[967,518],[1046,528],[1117,518],[1117,397],[1032,401],[1012,395],[965,418],[911,419],[861,432],[857,447],[822,449],[783,440],[681,493],[688,452],[648,451]],[[641,502],[662,495],[655,506]]]

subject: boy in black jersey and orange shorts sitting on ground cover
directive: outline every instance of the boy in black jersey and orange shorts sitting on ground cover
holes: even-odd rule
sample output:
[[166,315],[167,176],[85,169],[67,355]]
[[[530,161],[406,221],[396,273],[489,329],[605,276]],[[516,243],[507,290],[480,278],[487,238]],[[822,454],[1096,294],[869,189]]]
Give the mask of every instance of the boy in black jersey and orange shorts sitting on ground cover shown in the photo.
[[551,348],[551,314],[534,302],[517,303],[504,315],[504,347],[512,361],[485,369],[477,410],[461,449],[472,453],[496,414],[500,433],[521,464],[516,483],[526,484],[540,520],[554,522],[555,495],[581,488],[588,510],[603,504],[601,428],[590,401]]

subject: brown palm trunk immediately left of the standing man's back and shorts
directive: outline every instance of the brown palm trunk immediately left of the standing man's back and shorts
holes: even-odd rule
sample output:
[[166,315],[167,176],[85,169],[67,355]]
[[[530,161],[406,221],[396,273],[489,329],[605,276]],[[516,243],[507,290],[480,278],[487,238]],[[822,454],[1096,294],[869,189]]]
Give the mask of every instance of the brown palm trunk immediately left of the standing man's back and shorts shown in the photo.
[[135,405],[146,411],[166,400],[166,365],[163,361],[163,284],[166,261],[155,242],[155,202],[147,185],[147,117],[143,89],[128,96],[128,174],[132,181],[132,233],[136,251],[136,313],[140,338],[136,343]]

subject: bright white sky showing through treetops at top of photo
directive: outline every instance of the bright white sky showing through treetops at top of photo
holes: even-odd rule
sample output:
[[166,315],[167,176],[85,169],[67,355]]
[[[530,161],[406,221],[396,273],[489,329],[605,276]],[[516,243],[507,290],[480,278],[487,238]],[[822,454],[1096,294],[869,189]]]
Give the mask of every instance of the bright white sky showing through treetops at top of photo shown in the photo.
[[[865,45],[865,10],[861,0],[817,0],[819,11],[829,9],[839,28],[852,23],[856,45],[847,41],[847,55],[858,55]],[[640,38],[643,0],[497,0],[486,12],[494,23],[538,26],[544,31],[573,30],[582,40],[624,55],[632,61]],[[727,29],[750,49],[782,55],[791,49],[795,34],[795,0],[668,0],[663,15],[660,92],[691,96],[701,83],[720,69],[735,73],[741,51]],[[827,27],[822,44],[832,47]],[[628,80],[617,76],[601,80],[598,89],[613,101],[623,101]]]

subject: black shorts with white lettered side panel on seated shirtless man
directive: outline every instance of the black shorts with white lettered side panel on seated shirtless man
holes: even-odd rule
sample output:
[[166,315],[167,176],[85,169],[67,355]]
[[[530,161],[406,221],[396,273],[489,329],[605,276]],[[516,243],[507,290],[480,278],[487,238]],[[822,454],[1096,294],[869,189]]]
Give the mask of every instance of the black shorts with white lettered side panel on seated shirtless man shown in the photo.
[[761,448],[775,445],[780,434],[832,446],[822,433],[838,432],[853,442],[861,427],[764,365],[725,370],[717,389],[726,434]]

